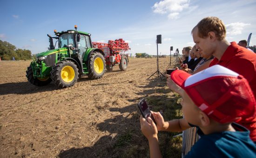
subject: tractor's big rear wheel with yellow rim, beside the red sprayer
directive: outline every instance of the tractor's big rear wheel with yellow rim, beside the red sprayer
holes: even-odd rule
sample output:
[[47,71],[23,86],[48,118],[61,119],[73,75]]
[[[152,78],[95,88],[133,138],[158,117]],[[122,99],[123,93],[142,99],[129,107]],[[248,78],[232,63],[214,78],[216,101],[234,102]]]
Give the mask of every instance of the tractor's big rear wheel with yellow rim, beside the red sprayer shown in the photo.
[[103,55],[99,52],[91,53],[88,62],[89,79],[100,79],[106,71],[106,63]]

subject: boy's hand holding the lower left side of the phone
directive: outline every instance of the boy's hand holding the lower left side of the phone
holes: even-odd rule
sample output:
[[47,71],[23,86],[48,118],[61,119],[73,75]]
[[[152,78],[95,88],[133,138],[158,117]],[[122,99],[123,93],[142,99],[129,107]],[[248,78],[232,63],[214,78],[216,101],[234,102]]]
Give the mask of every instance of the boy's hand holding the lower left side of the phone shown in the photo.
[[148,121],[147,121],[141,115],[140,122],[141,122],[141,132],[148,139],[148,141],[150,141],[153,138],[157,138],[157,133],[158,133],[157,128],[154,121],[150,117],[148,117]]

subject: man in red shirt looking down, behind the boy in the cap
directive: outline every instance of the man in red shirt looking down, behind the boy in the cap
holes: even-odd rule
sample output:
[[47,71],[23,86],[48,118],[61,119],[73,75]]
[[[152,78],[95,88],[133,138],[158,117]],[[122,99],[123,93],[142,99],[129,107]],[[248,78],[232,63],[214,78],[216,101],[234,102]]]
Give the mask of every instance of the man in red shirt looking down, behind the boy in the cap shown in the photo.
[[[242,46],[238,46],[236,42],[230,44],[225,40],[226,27],[222,20],[217,17],[207,17],[202,19],[193,28],[191,33],[196,48],[201,49],[202,53],[206,56],[213,55],[215,57],[210,66],[219,64],[243,75],[243,77],[248,80],[254,97],[256,98],[256,54]],[[167,79],[167,85],[170,89],[180,93],[181,88],[169,77]],[[250,138],[256,142],[256,118],[243,118],[237,123],[248,128],[250,131]],[[171,120],[169,124],[171,128],[174,129],[174,132],[189,128],[188,123],[184,121],[184,119]],[[176,128],[176,126],[179,128]]]

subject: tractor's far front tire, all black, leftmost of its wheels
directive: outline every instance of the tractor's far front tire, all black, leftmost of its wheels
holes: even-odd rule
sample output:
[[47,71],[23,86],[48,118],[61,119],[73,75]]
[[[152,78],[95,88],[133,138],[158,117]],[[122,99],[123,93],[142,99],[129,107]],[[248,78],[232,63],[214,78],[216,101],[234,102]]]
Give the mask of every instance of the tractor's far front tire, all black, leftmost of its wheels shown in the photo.
[[49,77],[46,77],[44,79],[41,78],[34,78],[33,76],[33,69],[32,66],[30,65],[29,67],[27,67],[27,71],[26,71],[26,77],[27,80],[32,83],[34,86],[46,86],[49,83],[51,83],[52,79]]

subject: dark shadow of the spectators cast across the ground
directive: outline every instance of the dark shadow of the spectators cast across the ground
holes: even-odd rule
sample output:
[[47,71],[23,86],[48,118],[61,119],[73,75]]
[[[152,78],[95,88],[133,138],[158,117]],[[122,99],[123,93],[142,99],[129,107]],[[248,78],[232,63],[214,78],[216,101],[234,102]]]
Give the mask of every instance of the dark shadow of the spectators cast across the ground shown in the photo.
[[[181,106],[178,104],[177,95],[165,95],[171,92],[165,87],[165,80],[151,79],[144,87],[158,87],[161,95],[152,95],[155,90],[138,92],[148,100],[152,111],[163,111],[166,120],[181,118]],[[157,92],[159,93],[159,92]],[[149,96],[150,95],[150,96]],[[60,158],[147,158],[149,157],[148,141],[140,130],[140,111],[134,102],[137,99],[128,99],[131,105],[123,108],[109,108],[110,112],[120,112],[120,115],[105,119],[97,124],[101,132],[108,132],[107,136],[101,137],[93,146],[83,148],[71,148],[59,153]],[[159,132],[160,148],[163,158],[181,157],[181,138],[173,138],[178,133]]]

